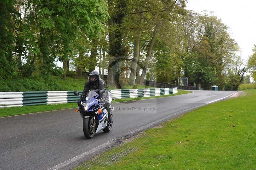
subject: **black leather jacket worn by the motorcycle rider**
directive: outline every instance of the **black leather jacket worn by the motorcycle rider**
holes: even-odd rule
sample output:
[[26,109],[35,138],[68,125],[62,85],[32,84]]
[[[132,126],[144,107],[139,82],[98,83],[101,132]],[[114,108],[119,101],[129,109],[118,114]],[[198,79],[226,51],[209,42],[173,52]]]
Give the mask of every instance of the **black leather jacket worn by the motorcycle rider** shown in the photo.
[[[85,96],[89,90],[95,91],[96,93],[99,93],[100,90],[106,90],[106,83],[104,80],[99,78],[96,81],[87,81],[84,85],[84,92],[82,93],[82,96]],[[101,98],[101,97],[100,97]],[[108,99],[108,91],[106,90],[105,93],[102,95],[102,98],[107,100]]]

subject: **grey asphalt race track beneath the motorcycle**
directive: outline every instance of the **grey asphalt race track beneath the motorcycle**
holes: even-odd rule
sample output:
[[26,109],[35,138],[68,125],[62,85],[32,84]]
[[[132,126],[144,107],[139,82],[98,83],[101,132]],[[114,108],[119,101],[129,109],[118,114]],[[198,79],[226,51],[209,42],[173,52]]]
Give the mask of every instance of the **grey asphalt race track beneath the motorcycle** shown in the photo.
[[[108,149],[104,143],[112,139],[150,128],[232,93],[195,90],[172,97],[114,103],[111,132],[100,132],[90,140],[85,139],[83,119],[74,109],[0,118],[0,169],[71,169]],[[97,151],[92,150],[96,147]]]

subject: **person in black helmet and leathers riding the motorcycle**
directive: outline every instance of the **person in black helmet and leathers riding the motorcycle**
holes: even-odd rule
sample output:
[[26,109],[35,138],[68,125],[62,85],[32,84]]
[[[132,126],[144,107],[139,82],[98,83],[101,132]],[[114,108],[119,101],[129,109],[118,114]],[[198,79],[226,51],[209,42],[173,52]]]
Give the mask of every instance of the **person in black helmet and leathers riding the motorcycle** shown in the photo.
[[89,81],[87,81],[84,85],[84,92],[82,93],[82,97],[84,97],[89,90],[95,91],[99,93],[100,90],[104,89],[105,93],[102,94],[102,99],[100,103],[102,103],[109,113],[109,122],[113,122],[112,113],[111,113],[111,105],[109,103],[108,91],[106,90],[106,83],[99,76],[98,71],[93,70],[89,74]]

